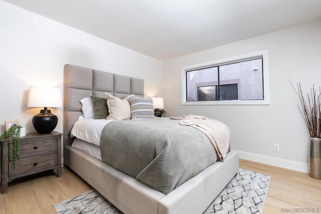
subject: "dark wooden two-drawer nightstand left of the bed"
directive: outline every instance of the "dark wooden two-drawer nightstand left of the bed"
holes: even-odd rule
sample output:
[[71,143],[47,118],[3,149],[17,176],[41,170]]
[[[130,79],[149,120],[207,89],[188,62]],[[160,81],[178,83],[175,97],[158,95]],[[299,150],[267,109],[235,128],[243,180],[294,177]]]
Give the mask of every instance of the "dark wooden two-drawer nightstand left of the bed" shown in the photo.
[[14,168],[9,161],[9,139],[2,142],[1,184],[2,191],[8,191],[8,182],[18,177],[56,169],[61,176],[61,133],[53,131],[49,134],[28,133],[20,138],[20,157]]

